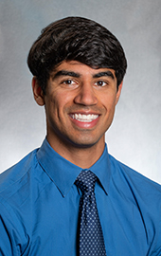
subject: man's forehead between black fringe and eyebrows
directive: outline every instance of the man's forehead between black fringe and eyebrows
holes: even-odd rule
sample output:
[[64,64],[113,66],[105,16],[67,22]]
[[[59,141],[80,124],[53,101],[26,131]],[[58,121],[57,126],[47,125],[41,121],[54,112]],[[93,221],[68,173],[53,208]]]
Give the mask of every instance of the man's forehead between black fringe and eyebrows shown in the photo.
[[[75,72],[75,74],[78,74],[79,77],[81,76],[92,76],[95,77],[97,74],[100,73],[106,73],[106,71],[109,71],[109,74],[111,73],[114,77],[114,80],[116,80],[116,71],[111,68],[107,67],[101,67],[101,68],[92,68],[89,65],[82,64],[78,61],[63,61],[62,64],[59,64],[51,73],[51,76],[55,76],[56,74],[59,74],[60,72],[65,73],[67,72]],[[102,75],[103,76],[103,75]],[[109,75],[110,77],[110,75]]]

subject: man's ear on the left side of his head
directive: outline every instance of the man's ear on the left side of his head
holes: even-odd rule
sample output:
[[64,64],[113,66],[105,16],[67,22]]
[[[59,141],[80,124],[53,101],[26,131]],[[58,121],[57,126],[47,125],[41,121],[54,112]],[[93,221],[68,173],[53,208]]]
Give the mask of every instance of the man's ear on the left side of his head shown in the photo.
[[36,77],[33,77],[32,79],[32,91],[33,91],[34,99],[38,103],[38,105],[40,106],[45,105],[44,93]]

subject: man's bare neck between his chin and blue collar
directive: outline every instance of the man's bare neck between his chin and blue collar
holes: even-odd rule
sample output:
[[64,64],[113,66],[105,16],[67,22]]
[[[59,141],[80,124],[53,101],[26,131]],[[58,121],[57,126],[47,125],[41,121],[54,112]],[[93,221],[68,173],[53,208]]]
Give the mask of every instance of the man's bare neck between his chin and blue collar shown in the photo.
[[89,169],[95,162],[98,161],[100,155],[104,150],[104,137],[100,138],[99,141],[90,147],[81,148],[71,145],[69,143],[63,143],[62,141],[56,141],[47,136],[47,140],[50,146],[59,154],[62,155],[66,160],[79,166],[82,169]]

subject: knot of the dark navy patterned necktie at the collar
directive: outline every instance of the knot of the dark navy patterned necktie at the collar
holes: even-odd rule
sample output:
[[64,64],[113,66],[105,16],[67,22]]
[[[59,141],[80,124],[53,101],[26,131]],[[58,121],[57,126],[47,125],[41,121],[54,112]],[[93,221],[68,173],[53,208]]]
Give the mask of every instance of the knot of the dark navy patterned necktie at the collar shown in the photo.
[[97,176],[91,171],[81,171],[75,181],[75,184],[80,188],[80,191],[83,193],[94,192],[96,181]]

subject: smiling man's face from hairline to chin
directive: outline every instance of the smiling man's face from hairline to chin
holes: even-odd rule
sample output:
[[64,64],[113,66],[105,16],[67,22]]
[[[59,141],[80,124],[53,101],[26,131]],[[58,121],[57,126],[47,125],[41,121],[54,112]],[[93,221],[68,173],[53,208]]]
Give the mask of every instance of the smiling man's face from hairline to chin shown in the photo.
[[77,148],[104,145],[120,91],[113,69],[64,61],[51,74],[44,96],[49,143]]

